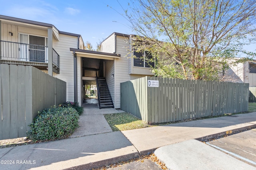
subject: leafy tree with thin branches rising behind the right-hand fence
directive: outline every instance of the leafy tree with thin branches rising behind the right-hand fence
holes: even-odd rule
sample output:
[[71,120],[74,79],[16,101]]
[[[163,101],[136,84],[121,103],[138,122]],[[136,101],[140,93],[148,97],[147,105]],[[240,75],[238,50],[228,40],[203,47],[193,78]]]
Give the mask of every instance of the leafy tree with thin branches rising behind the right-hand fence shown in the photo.
[[[228,64],[255,53],[255,0],[132,0],[125,17],[139,36],[132,45],[157,60],[158,76],[217,80]],[[238,53],[248,58],[234,60]],[[148,61],[152,59],[146,59]]]

